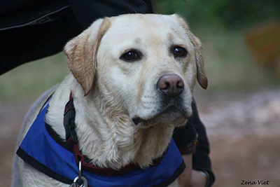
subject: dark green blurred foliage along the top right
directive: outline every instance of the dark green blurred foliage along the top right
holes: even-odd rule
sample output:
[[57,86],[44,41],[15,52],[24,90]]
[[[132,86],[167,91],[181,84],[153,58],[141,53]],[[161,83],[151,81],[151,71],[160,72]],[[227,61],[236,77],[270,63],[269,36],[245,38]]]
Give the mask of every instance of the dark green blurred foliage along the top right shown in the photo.
[[279,0],[156,0],[155,13],[179,13],[193,27],[216,24],[225,29],[242,29],[265,20],[280,20]]

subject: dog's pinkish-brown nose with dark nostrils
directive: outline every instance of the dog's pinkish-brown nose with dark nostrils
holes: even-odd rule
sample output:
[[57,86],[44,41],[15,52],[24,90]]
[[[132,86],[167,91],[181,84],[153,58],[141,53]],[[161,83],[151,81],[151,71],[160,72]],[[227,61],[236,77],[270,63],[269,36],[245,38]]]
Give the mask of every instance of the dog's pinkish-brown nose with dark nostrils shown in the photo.
[[168,74],[160,77],[157,83],[158,91],[164,95],[175,97],[180,95],[184,89],[184,83],[180,76],[176,74]]

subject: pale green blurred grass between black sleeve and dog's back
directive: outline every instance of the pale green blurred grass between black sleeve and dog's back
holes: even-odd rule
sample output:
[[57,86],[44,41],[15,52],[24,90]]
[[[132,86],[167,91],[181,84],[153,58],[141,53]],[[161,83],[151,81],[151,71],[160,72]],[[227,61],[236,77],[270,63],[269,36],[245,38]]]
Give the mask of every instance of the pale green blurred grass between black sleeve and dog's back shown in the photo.
[[62,53],[23,64],[0,76],[0,102],[11,98],[36,98],[68,73]]

